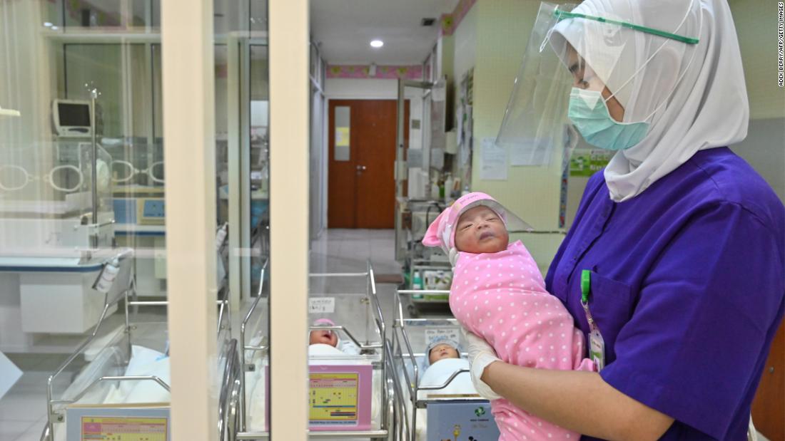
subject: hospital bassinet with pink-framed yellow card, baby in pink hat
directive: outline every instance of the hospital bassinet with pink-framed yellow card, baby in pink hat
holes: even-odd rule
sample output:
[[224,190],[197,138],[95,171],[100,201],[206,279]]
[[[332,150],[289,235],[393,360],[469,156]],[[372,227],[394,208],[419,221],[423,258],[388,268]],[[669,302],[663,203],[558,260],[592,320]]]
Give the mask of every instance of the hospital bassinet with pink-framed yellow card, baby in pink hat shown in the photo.
[[[320,318],[334,323],[311,329],[336,332],[343,348],[309,354],[309,437],[394,439],[390,428],[400,418],[400,403],[394,401],[396,378],[371,263],[364,273],[310,274],[309,286],[310,323]],[[260,289],[240,327],[244,373],[237,439],[269,438],[267,310]]]

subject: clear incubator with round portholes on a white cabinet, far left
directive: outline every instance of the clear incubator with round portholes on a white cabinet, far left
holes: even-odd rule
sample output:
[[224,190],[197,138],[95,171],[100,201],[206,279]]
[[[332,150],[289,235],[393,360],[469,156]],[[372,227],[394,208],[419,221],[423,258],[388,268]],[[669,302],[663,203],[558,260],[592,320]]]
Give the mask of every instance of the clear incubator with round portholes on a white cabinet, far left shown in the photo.
[[88,330],[103,305],[93,285],[104,266],[118,262],[118,286],[132,277],[133,254],[115,247],[110,164],[101,146],[81,141],[0,149],[0,296],[20,320],[3,349],[30,351],[35,333]]

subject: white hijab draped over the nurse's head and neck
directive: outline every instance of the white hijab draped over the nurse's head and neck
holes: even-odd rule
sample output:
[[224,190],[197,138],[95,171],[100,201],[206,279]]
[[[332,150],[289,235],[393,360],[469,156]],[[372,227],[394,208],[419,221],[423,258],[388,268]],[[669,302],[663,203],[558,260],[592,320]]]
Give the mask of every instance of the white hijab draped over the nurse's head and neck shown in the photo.
[[573,12],[699,38],[697,45],[688,45],[623,28],[623,49],[608,49],[595,44],[607,24],[587,25],[590,20],[583,19],[557,24],[554,34],[566,38],[590,66],[593,59],[611,56],[609,50],[617,57],[597,75],[624,107],[623,122],[644,121],[653,113],[641,143],[619,150],[605,168],[612,200],[637,196],[698,150],[747,136],[747,87],[726,0],[586,0]]

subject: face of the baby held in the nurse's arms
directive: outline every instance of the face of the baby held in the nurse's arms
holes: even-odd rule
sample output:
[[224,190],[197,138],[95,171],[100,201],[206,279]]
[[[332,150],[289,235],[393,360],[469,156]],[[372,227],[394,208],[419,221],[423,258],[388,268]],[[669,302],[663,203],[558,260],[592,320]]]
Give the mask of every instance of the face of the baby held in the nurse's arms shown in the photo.
[[463,213],[455,229],[455,248],[467,253],[497,253],[507,249],[509,234],[495,211],[478,205]]

